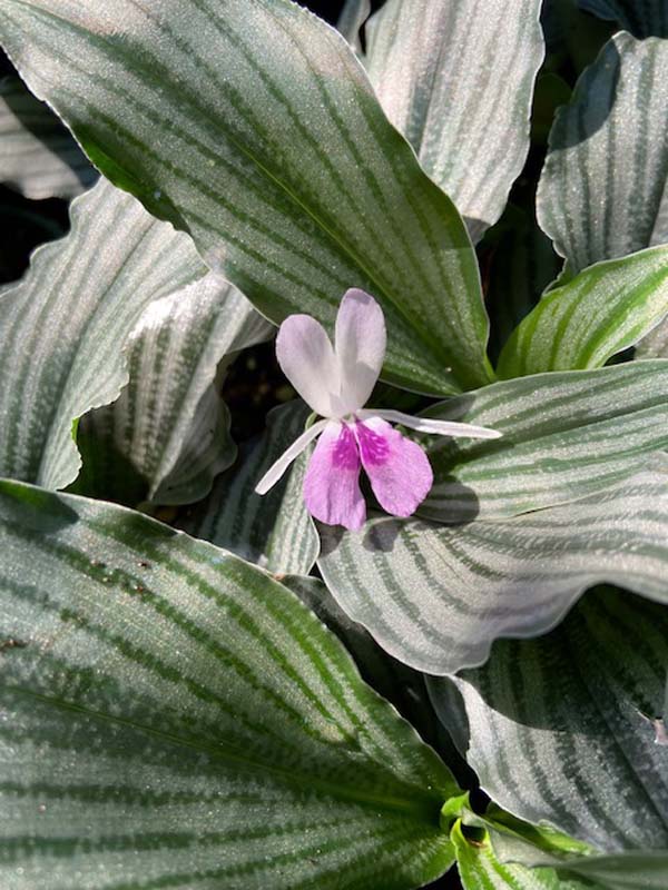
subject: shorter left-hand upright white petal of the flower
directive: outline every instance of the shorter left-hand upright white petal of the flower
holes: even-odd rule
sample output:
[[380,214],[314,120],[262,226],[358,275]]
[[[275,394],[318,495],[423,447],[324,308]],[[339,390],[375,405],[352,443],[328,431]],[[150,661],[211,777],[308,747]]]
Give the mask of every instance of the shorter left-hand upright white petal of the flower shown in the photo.
[[325,328],[310,315],[289,315],[276,337],[283,373],[316,414],[340,413],[338,363]]

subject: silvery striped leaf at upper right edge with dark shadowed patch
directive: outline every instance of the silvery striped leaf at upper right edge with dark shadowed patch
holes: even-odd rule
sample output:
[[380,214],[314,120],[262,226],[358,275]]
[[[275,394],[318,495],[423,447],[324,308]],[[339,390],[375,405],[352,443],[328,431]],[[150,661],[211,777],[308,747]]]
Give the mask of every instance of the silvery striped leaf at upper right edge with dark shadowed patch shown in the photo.
[[557,113],[537,210],[572,273],[668,241],[667,80],[666,41],[618,33]]

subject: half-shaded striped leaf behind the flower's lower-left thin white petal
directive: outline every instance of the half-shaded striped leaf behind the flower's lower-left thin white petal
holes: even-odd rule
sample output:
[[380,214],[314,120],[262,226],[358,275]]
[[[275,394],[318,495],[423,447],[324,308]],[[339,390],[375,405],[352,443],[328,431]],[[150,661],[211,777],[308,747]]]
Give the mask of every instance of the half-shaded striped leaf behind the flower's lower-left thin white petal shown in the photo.
[[268,494],[255,494],[266,471],[304,432],[308,415],[301,400],[269,412],[266,432],[242,447],[238,465],[215,482],[205,501],[179,516],[178,527],[269,572],[308,574],[320,541],[302,494],[307,455],[302,454]]

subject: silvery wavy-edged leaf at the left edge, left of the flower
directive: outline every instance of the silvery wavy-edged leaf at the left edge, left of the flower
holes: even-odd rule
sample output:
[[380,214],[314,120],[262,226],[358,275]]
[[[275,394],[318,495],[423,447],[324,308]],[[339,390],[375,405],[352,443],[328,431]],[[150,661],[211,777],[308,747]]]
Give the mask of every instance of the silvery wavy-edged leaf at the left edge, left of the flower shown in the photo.
[[101,181],[77,198],[70,234],[39,248],[0,295],[0,473],[48,488],[72,482],[72,423],[118,396],[141,312],[205,273],[190,239],[129,195]]

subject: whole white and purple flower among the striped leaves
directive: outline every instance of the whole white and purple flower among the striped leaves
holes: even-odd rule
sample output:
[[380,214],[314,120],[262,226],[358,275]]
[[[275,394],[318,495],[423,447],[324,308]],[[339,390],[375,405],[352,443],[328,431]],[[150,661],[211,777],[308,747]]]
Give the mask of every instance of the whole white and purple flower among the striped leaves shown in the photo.
[[389,421],[422,433],[498,438],[483,426],[412,417],[399,411],[366,411],[385,357],[385,318],[364,290],[347,290],[336,316],[334,346],[310,315],[291,315],[276,337],[276,357],[317,421],[276,461],[256,486],[266,494],[291,463],[318,437],[304,477],[304,501],[316,520],[362,527],[366,505],[360,491],[364,467],[379,504],[393,516],[410,516],[424,501],[433,473],[424,451]]

